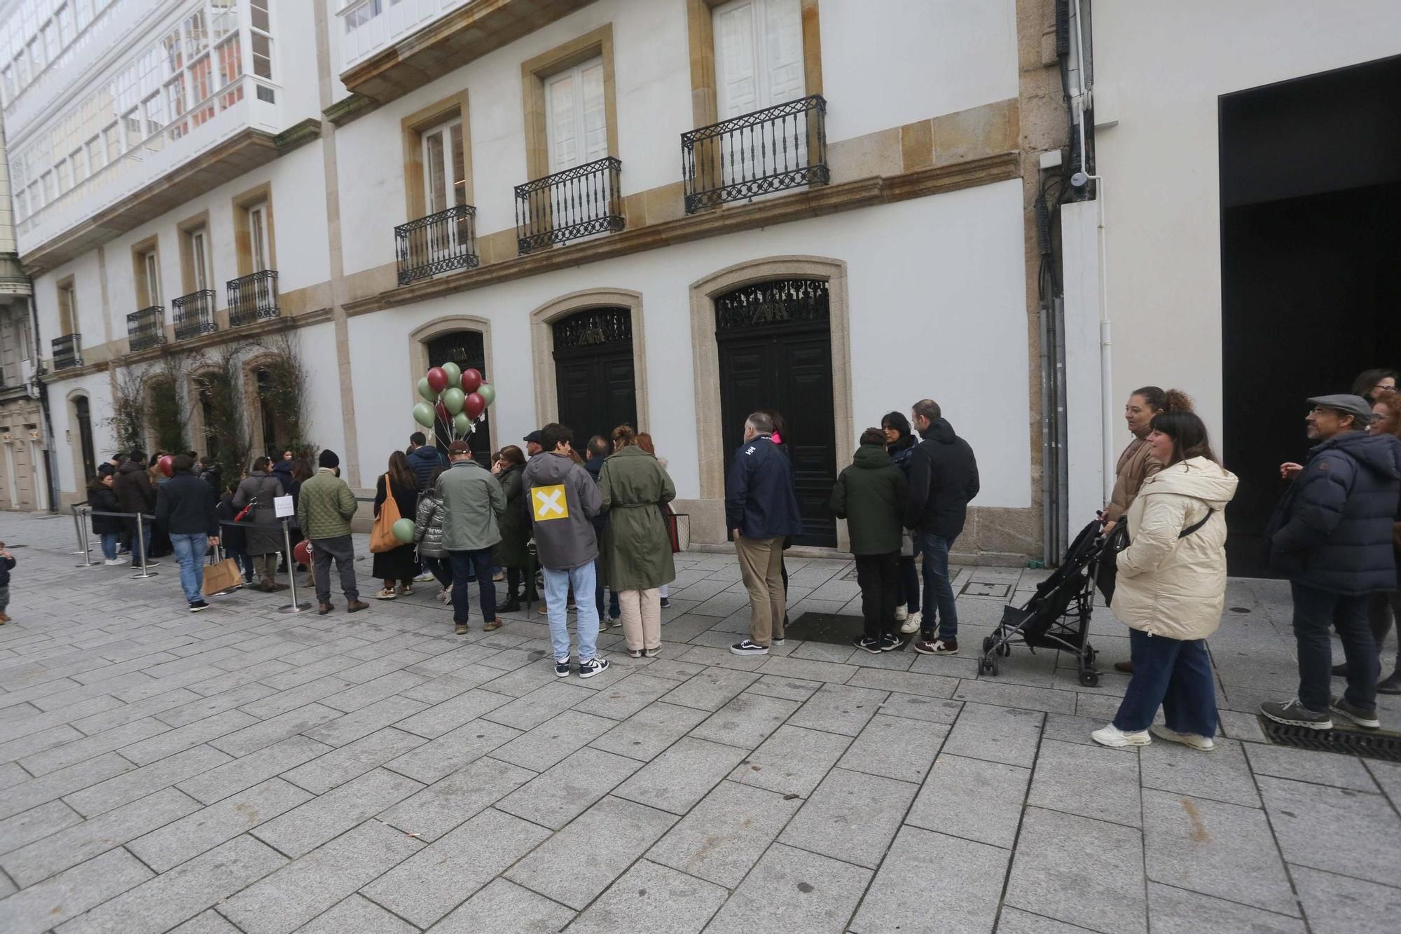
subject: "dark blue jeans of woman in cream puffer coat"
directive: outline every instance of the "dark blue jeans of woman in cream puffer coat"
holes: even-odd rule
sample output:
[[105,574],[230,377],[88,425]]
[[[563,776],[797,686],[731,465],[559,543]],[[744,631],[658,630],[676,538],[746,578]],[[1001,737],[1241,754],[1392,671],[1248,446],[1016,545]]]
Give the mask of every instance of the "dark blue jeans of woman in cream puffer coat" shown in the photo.
[[1168,729],[1216,735],[1216,682],[1206,639],[1170,639],[1129,630],[1129,656],[1133,677],[1114,715],[1115,726],[1126,733],[1142,732],[1153,725],[1161,705]]

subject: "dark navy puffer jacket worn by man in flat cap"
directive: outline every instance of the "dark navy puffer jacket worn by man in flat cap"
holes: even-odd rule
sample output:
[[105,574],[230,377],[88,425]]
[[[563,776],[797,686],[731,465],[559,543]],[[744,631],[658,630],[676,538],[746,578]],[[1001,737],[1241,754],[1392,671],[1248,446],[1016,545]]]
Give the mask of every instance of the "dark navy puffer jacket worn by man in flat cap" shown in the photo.
[[1394,590],[1398,496],[1401,440],[1363,432],[1330,438],[1309,452],[1269,519],[1271,568],[1332,593]]

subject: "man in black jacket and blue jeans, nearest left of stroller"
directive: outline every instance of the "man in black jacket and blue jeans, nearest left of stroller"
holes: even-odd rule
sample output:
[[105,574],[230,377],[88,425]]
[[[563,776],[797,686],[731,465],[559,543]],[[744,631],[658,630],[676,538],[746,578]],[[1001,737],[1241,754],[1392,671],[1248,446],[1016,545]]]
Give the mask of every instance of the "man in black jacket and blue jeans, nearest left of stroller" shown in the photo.
[[958,609],[948,553],[962,533],[968,502],[978,495],[978,460],[934,400],[919,400],[909,417],[922,439],[909,457],[909,510],[905,516],[905,524],[915,532],[915,553],[925,564],[925,617],[915,651],[957,655]]

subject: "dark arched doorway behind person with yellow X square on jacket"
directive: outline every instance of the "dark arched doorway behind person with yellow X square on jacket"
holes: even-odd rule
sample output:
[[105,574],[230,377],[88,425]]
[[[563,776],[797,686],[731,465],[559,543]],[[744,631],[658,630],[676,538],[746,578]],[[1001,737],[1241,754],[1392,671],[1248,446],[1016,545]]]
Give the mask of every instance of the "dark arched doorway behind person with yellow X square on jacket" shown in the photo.
[[632,311],[586,309],[551,325],[559,421],[574,429],[584,454],[594,435],[618,425],[637,428],[637,386],[632,353]]

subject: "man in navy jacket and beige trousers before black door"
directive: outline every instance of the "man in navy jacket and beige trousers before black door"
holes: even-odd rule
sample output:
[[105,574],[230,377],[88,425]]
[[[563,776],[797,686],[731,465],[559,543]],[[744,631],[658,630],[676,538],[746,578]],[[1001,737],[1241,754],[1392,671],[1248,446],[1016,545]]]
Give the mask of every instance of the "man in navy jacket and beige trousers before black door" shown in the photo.
[[771,647],[783,645],[783,539],[803,534],[803,520],[793,466],[773,443],[773,419],[764,412],[744,422],[744,443],[724,482],[724,519],[750,592],[750,638],[730,652],[768,655]]

